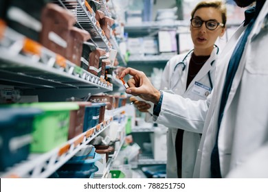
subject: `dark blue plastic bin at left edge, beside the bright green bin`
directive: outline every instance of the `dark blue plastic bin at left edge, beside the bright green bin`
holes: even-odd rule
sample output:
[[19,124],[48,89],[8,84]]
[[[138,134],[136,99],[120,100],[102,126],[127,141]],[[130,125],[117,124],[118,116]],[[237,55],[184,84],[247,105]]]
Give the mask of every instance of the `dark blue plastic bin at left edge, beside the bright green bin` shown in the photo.
[[0,108],[0,171],[27,158],[33,120],[41,112],[36,108]]

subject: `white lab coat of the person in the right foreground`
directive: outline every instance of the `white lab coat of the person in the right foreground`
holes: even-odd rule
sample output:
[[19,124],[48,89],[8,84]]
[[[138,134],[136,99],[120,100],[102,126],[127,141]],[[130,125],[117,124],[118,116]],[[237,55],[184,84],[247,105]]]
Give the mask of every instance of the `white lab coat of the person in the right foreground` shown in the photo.
[[[234,76],[219,131],[221,175],[268,178],[268,1],[255,21]],[[215,84],[205,101],[190,101],[164,93],[156,122],[203,130],[194,178],[210,178],[210,156],[216,141],[221,93],[227,64],[236,45],[236,31],[215,62]],[[208,108],[209,107],[209,108]],[[252,167],[254,166],[254,167]]]

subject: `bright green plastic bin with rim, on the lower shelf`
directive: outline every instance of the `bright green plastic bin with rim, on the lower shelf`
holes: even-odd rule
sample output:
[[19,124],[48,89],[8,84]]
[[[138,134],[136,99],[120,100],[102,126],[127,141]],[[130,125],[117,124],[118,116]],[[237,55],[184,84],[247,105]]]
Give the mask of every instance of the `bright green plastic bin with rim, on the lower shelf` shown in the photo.
[[41,108],[44,113],[34,119],[33,142],[30,152],[43,153],[67,141],[70,112],[78,110],[78,104],[73,102],[43,102],[23,104]]

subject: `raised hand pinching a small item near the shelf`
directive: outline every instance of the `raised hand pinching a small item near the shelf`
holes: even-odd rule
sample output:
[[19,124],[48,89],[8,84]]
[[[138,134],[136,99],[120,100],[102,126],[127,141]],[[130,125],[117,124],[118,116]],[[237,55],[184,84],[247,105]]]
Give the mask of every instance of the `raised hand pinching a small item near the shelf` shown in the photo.
[[128,67],[120,73],[120,78],[124,78],[127,74],[133,77],[127,82],[129,88],[126,89],[126,93],[139,96],[146,101],[157,104],[161,93],[150,83],[144,72]]

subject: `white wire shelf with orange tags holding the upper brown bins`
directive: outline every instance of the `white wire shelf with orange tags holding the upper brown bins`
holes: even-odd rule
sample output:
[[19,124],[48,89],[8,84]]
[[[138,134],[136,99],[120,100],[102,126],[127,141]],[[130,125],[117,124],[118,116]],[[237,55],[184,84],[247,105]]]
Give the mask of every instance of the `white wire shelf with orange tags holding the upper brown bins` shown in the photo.
[[65,96],[63,99],[76,93],[85,97],[88,93],[113,91],[113,84],[0,24],[1,84],[16,86],[26,94],[39,93],[40,101],[56,99],[56,93],[58,97]]

